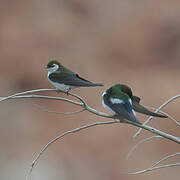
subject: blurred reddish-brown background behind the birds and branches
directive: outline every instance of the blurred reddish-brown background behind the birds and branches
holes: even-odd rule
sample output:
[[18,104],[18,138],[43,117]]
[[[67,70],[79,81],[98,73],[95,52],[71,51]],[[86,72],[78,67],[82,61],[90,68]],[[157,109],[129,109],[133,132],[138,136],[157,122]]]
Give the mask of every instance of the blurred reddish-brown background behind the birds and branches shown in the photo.
[[[144,105],[158,107],[180,90],[180,1],[178,0],[0,0],[0,96],[37,88],[52,88],[45,66],[56,58],[63,65],[104,87],[80,88],[90,106],[104,111],[101,94],[115,83],[132,87]],[[46,93],[47,94],[47,93]],[[57,95],[51,93],[51,95]],[[58,94],[58,96],[64,96]],[[106,119],[82,112],[57,115],[78,107],[47,100],[9,100],[0,104],[0,179],[25,179],[36,153],[55,136]],[[179,100],[164,108],[180,119]],[[147,117],[138,115],[143,122]],[[180,136],[168,119],[150,125]],[[125,124],[98,126],[64,137],[43,154],[33,180],[178,179],[179,167],[127,176],[150,167],[178,145]],[[169,162],[177,162],[176,157]]]

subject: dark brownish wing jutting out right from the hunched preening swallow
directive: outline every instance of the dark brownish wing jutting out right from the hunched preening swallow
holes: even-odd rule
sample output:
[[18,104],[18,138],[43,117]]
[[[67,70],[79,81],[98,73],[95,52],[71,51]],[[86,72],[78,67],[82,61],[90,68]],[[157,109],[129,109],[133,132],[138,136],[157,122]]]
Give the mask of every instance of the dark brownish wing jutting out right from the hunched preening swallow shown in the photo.
[[133,109],[136,112],[139,112],[139,113],[142,113],[142,114],[146,114],[146,115],[149,115],[149,116],[155,116],[155,117],[160,117],[160,118],[167,118],[167,116],[165,116],[165,115],[161,115],[161,114],[149,111],[147,108],[145,108],[144,106],[140,105],[139,102],[140,102],[140,98],[139,97],[137,97],[137,96],[133,96],[132,97],[132,106],[133,106]]

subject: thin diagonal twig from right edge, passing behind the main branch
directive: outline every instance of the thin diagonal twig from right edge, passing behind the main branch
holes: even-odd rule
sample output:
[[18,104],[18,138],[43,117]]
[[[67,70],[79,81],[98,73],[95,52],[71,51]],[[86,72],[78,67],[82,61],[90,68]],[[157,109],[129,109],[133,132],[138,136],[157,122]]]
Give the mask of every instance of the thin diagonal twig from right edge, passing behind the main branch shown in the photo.
[[[159,110],[161,110],[163,107],[165,107],[167,104],[169,104],[170,102],[174,101],[175,99],[180,98],[180,94],[173,96],[172,98],[168,99],[166,102],[164,102],[161,106],[159,106],[159,108],[156,109],[155,113],[159,112]],[[145,122],[144,125],[147,124],[148,122],[150,122],[150,120],[153,117],[150,116]],[[133,138],[135,138],[136,136],[138,136],[142,131],[142,128],[139,128],[138,131],[134,134]]]

